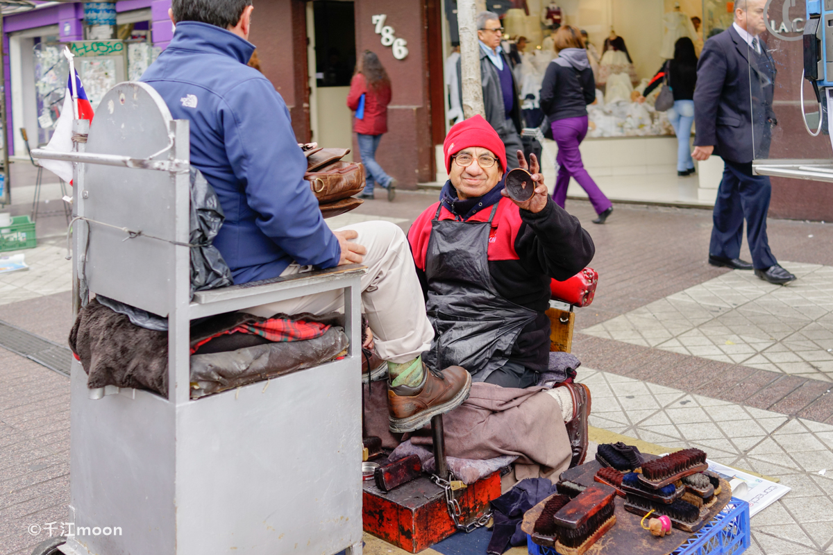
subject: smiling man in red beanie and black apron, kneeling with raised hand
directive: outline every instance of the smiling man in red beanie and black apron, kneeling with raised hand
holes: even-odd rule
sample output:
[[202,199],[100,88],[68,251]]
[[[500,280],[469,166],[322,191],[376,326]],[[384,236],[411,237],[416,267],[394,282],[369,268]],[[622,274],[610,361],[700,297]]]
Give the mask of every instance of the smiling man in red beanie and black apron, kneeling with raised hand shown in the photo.
[[[539,374],[548,369],[550,320],[545,311],[550,281],[566,280],[585,268],[595,254],[593,240],[575,216],[547,195],[534,155],[527,166],[523,153],[516,154],[517,164],[528,167],[532,174],[534,195],[523,202],[506,195],[503,144],[481,116],[451,127],[443,153],[450,179],[442,188],[441,201],[416,219],[408,240],[428,319],[436,332],[423,360],[436,368],[461,365],[475,382],[466,404],[446,415],[449,454],[460,458],[481,458],[477,455],[485,453],[492,457],[496,453],[529,455],[523,444],[531,443],[538,434],[537,426],[547,434],[543,441],[554,445],[544,455],[546,461],[538,457],[536,462],[564,470],[571,460],[578,463],[586,453],[590,405],[586,386],[566,384],[549,391],[551,397],[544,394],[545,400],[536,400],[537,404],[551,404],[551,398],[556,398],[561,418],[549,415],[544,406],[533,409],[529,405],[525,411],[529,401],[517,399],[540,392],[541,388],[531,391],[535,389],[531,386],[538,384]],[[501,388],[484,386],[483,382]],[[489,414],[490,407],[498,414],[500,403],[491,404],[497,399],[516,407],[512,409],[516,414],[505,410],[492,418],[491,424],[488,418],[476,422],[480,417],[475,414]],[[467,410],[468,416],[464,414]],[[471,423],[461,425],[466,419]],[[565,431],[562,421],[574,422],[567,424]],[[463,441],[467,446],[461,448],[454,441],[456,430],[469,424],[472,431]],[[514,437],[506,439],[506,434]],[[516,448],[506,447],[513,441]],[[501,442],[501,448],[488,448]]]

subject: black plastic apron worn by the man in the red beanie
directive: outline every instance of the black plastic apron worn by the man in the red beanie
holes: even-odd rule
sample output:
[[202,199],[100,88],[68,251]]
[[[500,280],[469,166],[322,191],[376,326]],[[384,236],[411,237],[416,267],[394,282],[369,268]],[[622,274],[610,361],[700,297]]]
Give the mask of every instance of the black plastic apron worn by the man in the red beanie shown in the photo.
[[434,327],[428,366],[458,365],[475,381],[506,364],[521,330],[535,320],[535,310],[506,300],[489,273],[489,221],[440,221],[442,203],[431,221],[426,253],[428,320]]

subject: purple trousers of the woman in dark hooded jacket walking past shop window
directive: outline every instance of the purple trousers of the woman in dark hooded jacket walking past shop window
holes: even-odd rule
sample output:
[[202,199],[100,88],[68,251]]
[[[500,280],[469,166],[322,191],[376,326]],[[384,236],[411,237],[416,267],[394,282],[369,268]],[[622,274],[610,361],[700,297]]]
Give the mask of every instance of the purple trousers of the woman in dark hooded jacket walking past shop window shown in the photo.
[[581,162],[581,152],[578,150],[578,146],[587,136],[587,116],[567,117],[563,120],[553,121],[550,126],[552,127],[552,138],[558,143],[558,155],[556,156],[558,176],[556,177],[556,187],[552,191],[552,200],[558,206],[564,208],[567,186],[570,185],[570,178],[572,177],[590,197],[590,202],[593,208],[596,209],[596,214],[601,214],[613,206],[611,201],[601,192],[599,186],[596,185],[596,181],[593,181],[593,178],[584,169],[584,164]]

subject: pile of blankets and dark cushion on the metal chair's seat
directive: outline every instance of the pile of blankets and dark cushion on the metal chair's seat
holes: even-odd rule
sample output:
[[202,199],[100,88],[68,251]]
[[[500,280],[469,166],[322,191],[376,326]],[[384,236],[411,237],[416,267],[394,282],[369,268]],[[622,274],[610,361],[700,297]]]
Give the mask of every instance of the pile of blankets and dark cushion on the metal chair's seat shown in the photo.
[[[335,327],[339,317],[293,317],[318,320],[320,324],[317,324],[312,321],[291,320],[286,315],[266,319],[232,312],[192,325],[192,349],[197,344],[202,344],[203,349],[206,345],[212,344],[206,343],[204,339],[220,336],[225,338],[229,330],[247,327],[257,330],[256,334],[248,335],[260,339],[265,339],[264,336],[276,337],[272,332],[277,329],[282,330],[282,337],[315,335],[312,339],[284,340],[269,344],[249,343],[245,345],[246,349],[233,351],[232,354],[236,354],[235,356],[228,353],[194,355],[191,359],[192,381],[200,382],[201,385],[192,389],[192,398],[287,374],[332,359],[349,343],[341,328]],[[328,318],[330,320],[327,320]],[[261,330],[264,330],[262,334]],[[309,333],[311,330],[314,330],[314,333]],[[235,338],[238,335],[242,334],[232,333],[228,337]],[[246,342],[237,341],[237,344],[241,343]],[[87,372],[88,388],[115,385],[148,389],[167,397],[167,332],[148,330],[135,325],[127,315],[93,299],[78,312],[69,334],[69,346]]]

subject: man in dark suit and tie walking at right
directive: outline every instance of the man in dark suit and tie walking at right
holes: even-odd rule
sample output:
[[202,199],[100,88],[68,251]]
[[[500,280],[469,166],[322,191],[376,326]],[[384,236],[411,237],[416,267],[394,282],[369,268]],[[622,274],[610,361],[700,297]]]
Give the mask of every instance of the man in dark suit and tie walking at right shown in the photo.
[[[709,263],[752,270],[761,280],[785,284],[796,276],[778,265],[766,238],[770,208],[768,176],[752,175],[752,160],[769,156],[776,126],[772,95],[776,67],[759,35],[766,31],[766,0],[736,0],[735,22],[706,41],[697,64],[694,92],[695,149],[725,163],[715,202]],[[741,260],[743,221],[752,263]]]

